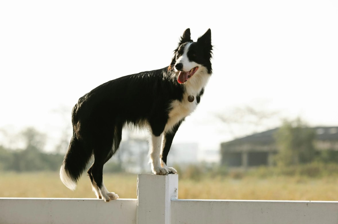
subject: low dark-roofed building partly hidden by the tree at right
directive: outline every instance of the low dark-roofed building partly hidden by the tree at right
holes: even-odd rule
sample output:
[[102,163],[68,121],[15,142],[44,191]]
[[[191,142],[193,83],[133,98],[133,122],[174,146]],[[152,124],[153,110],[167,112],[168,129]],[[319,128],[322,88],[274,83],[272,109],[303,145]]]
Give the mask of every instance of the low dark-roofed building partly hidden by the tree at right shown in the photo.
[[[315,148],[338,152],[338,127],[314,127]],[[278,128],[221,143],[221,164],[228,167],[271,166],[277,153],[274,133]]]

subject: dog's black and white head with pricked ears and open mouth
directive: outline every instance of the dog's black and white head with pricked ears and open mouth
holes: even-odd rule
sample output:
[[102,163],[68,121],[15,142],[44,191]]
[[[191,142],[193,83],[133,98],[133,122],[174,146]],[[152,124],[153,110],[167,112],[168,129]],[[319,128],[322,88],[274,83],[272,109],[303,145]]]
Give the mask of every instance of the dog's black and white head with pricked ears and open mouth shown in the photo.
[[185,83],[195,73],[202,71],[211,74],[212,48],[210,29],[200,36],[197,42],[193,42],[188,28],[180,38],[168,69],[175,71],[179,83]]

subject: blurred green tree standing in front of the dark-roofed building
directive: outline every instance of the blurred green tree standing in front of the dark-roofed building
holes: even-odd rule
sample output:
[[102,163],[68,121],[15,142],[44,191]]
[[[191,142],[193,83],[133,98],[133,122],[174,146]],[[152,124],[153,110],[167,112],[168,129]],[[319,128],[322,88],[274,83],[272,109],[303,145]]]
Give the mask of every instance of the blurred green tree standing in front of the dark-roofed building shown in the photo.
[[314,159],[315,131],[300,118],[294,121],[285,120],[274,138],[279,149],[276,156],[277,164],[298,165],[309,163]]

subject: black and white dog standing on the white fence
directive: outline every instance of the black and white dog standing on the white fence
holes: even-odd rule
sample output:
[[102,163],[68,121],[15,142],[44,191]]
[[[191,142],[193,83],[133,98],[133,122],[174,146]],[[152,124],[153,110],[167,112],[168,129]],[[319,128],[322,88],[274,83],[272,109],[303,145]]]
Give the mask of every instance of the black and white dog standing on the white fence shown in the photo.
[[102,179],[103,165],[118,150],[125,125],[144,127],[151,133],[150,159],[154,174],[175,174],[167,167],[174,135],[196,108],[211,73],[211,30],[197,42],[185,30],[169,67],[123,76],[82,96],[73,107],[73,136],[60,170],[62,182],[71,190],[86,169],[98,198],[117,199]]

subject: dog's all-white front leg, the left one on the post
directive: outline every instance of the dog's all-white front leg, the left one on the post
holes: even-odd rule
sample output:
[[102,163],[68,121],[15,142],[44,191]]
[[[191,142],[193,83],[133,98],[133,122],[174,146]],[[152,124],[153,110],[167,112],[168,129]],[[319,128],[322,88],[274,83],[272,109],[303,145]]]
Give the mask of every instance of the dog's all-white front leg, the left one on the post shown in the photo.
[[150,159],[151,159],[151,171],[153,174],[167,175],[169,170],[166,167],[161,167],[161,145],[162,145],[163,133],[160,136],[151,135],[150,144]]

